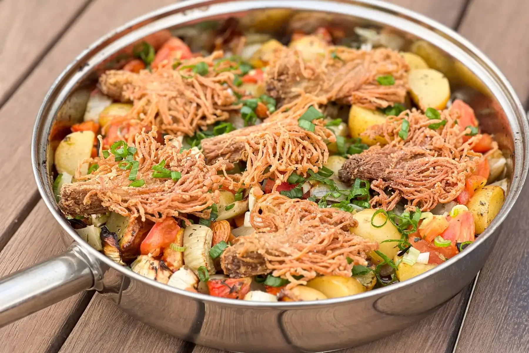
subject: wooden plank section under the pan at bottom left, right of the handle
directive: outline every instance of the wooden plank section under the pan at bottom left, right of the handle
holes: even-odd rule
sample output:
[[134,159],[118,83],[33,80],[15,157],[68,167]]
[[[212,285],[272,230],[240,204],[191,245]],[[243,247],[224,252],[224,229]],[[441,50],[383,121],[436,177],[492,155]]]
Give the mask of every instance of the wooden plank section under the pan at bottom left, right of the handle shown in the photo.
[[96,294],[59,352],[179,353],[189,345],[136,321]]

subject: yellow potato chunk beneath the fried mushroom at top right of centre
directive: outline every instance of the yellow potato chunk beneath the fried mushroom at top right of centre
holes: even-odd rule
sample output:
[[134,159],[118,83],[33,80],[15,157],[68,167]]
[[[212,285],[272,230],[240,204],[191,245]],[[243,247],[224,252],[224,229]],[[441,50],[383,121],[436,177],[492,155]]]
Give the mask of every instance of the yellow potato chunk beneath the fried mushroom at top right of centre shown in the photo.
[[370,110],[362,108],[356,105],[351,106],[349,111],[349,133],[352,138],[359,137],[363,143],[373,146],[374,144],[386,144],[387,141],[384,137],[376,137],[374,140],[369,139],[361,134],[366,131],[369,126],[380,125],[386,121],[386,115],[376,110]]

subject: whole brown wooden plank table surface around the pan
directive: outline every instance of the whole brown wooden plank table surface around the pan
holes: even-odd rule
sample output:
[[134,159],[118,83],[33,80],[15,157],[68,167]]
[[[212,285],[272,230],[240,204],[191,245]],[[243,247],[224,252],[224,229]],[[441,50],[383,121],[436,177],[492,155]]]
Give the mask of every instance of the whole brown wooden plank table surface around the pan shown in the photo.
[[[393,0],[457,30],[484,51],[529,103],[529,1]],[[88,44],[174,0],[0,1],[0,276],[58,254],[59,226],[40,200],[30,140],[45,92]],[[474,288],[367,352],[529,351],[529,187],[498,232]],[[473,289],[473,290],[472,290]],[[1,300],[1,298],[0,298]],[[162,334],[93,292],[0,329],[0,352],[219,352]]]

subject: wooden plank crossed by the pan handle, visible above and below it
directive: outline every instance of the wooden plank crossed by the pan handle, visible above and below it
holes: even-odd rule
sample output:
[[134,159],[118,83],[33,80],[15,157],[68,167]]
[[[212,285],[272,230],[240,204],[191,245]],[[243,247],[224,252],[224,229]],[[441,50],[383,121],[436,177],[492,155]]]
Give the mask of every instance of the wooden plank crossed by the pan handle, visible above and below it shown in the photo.
[[[39,202],[0,253],[0,277],[45,260],[63,249],[56,222]],[[57,351],[88,305],[93,292],[74,295],[0,329],[0,352]]]

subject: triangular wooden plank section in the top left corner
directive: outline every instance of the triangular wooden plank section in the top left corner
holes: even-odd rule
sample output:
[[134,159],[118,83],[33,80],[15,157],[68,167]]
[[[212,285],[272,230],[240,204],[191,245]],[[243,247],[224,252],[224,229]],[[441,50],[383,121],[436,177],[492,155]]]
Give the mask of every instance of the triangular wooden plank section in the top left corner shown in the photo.
[[0,2],[0,106],[89,1]]

